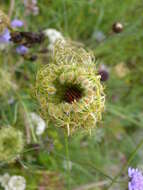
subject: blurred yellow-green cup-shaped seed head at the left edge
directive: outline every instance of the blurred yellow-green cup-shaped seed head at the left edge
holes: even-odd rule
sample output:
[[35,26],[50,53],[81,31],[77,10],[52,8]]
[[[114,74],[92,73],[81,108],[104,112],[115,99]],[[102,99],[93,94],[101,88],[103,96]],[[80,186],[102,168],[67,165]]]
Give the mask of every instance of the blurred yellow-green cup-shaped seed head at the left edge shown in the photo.
[[0,129],[0,161],[13,162],[24,148],[22,132],[13,127]]

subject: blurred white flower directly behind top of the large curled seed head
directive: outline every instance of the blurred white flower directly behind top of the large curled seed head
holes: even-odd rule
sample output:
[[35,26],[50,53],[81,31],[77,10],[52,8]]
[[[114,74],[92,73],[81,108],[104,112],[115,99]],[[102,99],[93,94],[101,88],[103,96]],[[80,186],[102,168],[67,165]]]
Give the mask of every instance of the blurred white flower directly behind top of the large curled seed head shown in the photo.
[[61,41],[65,42],[63,35],[55,29],[52,29],[52,28],[46,29],[44,31],[44,34],[46,37],[48,37],[49,42],[50,42],[50,44],[48,46],[49,50],[53,50],[54,44],[57,40],[61,40]]

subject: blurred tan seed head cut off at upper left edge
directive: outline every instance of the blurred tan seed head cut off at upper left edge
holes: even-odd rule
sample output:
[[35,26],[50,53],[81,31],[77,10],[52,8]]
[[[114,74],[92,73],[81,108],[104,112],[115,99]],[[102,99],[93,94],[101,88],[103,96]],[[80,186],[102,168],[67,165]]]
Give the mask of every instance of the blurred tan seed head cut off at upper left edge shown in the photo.
[[8,16],[0,10],[0,34],[2,34],[7,27],[10,26]]

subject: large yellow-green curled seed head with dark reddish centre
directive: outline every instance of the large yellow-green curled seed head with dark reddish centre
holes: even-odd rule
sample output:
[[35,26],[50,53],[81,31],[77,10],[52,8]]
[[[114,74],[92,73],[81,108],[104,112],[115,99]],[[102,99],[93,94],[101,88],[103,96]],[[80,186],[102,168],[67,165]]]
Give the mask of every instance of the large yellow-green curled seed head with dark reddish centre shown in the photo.
[[68,134],[101,120],[105,97],[95,63],[71,44],[57,42],[53,61],[37,74],[36,96],[44,116]]

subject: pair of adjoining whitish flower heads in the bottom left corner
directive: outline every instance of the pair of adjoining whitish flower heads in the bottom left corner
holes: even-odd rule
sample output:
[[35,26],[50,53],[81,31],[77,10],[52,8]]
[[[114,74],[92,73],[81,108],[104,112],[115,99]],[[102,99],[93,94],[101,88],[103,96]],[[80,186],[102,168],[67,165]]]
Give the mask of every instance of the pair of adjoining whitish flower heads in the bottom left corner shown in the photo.
[[5,190],[25,190],[26,180],[22,176],[10,176],[8,173],[0,176],[0,184]]

